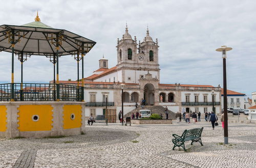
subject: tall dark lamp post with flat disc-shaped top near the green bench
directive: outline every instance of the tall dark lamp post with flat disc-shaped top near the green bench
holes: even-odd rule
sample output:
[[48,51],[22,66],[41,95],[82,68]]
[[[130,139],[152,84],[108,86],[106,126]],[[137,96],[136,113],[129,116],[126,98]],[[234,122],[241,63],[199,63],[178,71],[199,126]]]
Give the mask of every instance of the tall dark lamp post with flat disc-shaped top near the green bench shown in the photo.
[[227,126],[227,74],[226,74],[226,51],[231,50],[231,47],[221,46],[216,51],[222,52],[223,59],[223,105],[224,105],[224,144],[228,144],[228,126]]

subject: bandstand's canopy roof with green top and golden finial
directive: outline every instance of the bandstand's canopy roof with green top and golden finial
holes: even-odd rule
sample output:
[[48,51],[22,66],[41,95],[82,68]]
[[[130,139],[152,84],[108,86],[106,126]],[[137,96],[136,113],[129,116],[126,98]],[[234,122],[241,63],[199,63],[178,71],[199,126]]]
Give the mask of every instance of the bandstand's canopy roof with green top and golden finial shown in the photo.
[[[14,38],[14,40],[12,40]],[[58,46],[57,47],[57,41]],[[53,56],[58,48],[58,56],[88,53],[96,42],[75,33],[42,23],[38,17],[24,25],[0,25],[0,51],[15,54]]]

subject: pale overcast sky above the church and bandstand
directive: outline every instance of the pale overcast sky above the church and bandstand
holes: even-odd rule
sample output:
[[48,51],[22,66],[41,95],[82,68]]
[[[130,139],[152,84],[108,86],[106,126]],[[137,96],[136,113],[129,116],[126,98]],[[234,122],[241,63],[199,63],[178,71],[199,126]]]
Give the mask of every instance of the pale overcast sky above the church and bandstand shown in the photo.
[[[117,38],[127,21],[129,33],[159,42],[161,83],[223,86],[221,45],[227,52],[227,89],[251,97],[256,91],[255,1],[1,1],[0,24],[23,25],[34,21],[66,29],[97,42],[86,55],[85,77],[98,68],[102,53],[109,67],[117,63]],[[76,61],[61,57],[60,80],[76,80]],[[49,82],[53,65],[46,57],[24,63],[24,82]],[[0,52],[0,82],[11,80],[11,53]],[[20,63],[15,58],[15,82]]]

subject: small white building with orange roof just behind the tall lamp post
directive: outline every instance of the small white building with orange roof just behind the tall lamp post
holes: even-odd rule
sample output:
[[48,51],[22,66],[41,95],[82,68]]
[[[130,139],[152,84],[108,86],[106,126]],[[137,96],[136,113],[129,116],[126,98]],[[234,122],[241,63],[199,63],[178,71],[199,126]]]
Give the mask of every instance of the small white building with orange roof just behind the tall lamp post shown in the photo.
[[[221,108],[224,108],[223,106],[223,89],[221,89]],[[230,91],[227,90],[227,108],[246,108],[245,106],[245,100],[244,100],[245,94]]]

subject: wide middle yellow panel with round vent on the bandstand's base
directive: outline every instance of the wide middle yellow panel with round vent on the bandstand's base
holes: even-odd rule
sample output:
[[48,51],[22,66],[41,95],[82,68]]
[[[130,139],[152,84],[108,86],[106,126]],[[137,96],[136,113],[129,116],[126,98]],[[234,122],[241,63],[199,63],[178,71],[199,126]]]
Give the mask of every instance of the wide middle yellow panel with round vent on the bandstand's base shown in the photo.
[[[19,131],[50,131],[52,129],[53,107],[51,105],[20,105],[18,117]],[[34,122],[33,115],[39,120]]]

